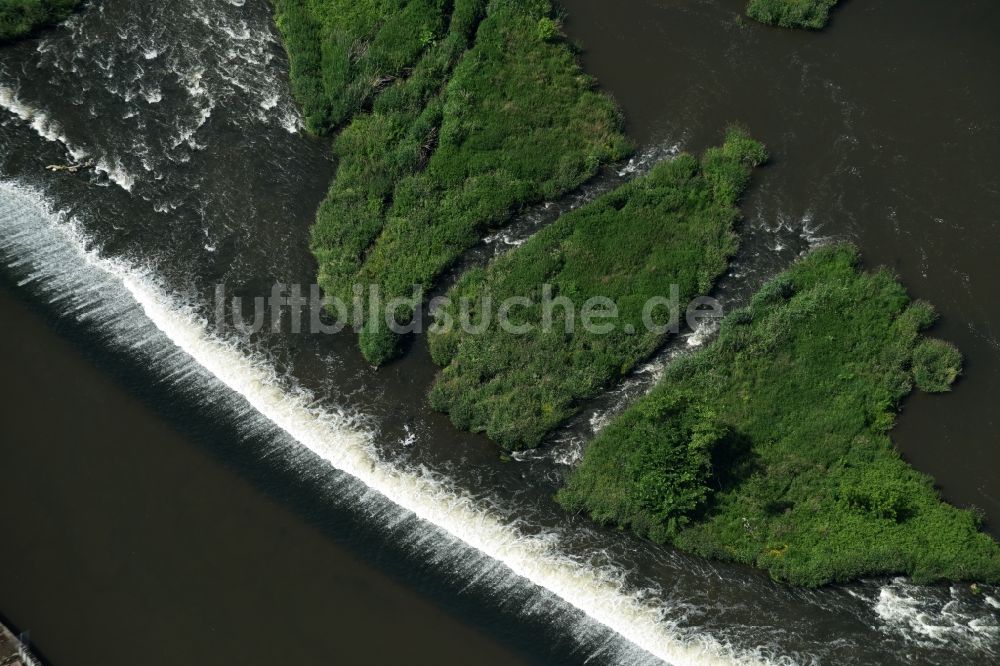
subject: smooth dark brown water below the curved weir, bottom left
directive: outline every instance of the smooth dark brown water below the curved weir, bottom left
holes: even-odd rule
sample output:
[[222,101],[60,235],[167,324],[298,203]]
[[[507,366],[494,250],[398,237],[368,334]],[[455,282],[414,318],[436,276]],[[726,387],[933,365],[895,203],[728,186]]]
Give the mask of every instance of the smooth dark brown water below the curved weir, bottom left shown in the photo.
[[[7,288],[0,312],[18,382],[0,599],[48,662],[525,663],[234,474]],[[392,640],[362,640],[380,626]]]

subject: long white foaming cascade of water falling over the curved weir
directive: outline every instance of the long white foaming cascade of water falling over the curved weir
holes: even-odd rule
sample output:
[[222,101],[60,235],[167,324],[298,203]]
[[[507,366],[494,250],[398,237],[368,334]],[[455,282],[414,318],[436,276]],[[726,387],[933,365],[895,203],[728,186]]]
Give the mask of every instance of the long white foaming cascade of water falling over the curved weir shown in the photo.
[[[49,210],[39,193],[0,183],[0,232],[0,255],[8,266],[29,275],[22,284],[42,289],[67,313],[98,321],[102,329],[112,331],[109,335],[127,338],[129,349],[150,353],[157,343],[151,338],[165,336],[162,346],[169,348],[172,343],[176,348],[156,352],[157,363],[163,365],[157,371],[196,377],[207,370],[302,446],[401,509],[399,515],[387,517],[390,522],[416,516],[425,521],[417,525],[419,538],[426,538],[422,534],[434,526],[486,555],[496,565],[487,568],[491,584],[498,587],[523,585],[516,579],[511,583],[511,573],[527,579],[543,595],[532,606],[548,603],[545,595],[551,593],[582,611],[586,618],[579,620],[568,608],[550,612],[558,620],[570,618],[570,635],[584,640],[603,625],[644,652],[626,644],[602,649],[619,650],[625,661],[634,663],[648,661],[649,655],[672,664],[762,663],[710,636],[682,636],[664,620],[667,609],[628,592],[615,575],[559,552],[553,535],[525,535],[447,479],[423,468],[401,469],[380,460],[373,452],[371,433],[357,419],[317,408],[314,396],[284,387],[269,365],[212,335],[149,271],[88,249],[77,225]],[[442,539],[443,552],[437,557],[448,557],[454,550],[453,541]],[[456,565],[459,574],[481,578],[484,564],[479,559],[472,551],[461,555]],[[541,611],[532,607],[525,612]]]

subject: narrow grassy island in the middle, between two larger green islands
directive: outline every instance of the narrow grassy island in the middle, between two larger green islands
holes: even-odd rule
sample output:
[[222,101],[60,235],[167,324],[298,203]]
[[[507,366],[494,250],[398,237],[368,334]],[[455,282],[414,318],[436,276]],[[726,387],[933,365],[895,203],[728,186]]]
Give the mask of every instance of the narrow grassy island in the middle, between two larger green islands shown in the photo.
[[[737,199],[754,166],[766,159],[760,144],[739,129],[699,162],[691,155],[653,171],[545,228],[486,269],[466,273],[439,313],[458,321],[463,299],[493,303],[511,297],[533,304],[511,312],[527,334],[503,330],[496,317],[480,334],[431,332],[431,354],[446,366],[431,391],[431,405],[459,428],[485,432],[506,449],[537,446],[575,413],[581,400],[633,369],[669,333],[649,331],[647,300],[679,287],[686,306],[705,294],[735,252]],[[593,297],[611,299],[619,319],[614,331],[588,332],[565,306],[550,308],[543,326],[543,285],[566,299],[574,313]],[[482,308],[474,316],[482,315]],[[657,310],[666,323],[666,309]],[[575,330],[566,332],[567,318]],[[627,327],[632,327],[629,332]]]

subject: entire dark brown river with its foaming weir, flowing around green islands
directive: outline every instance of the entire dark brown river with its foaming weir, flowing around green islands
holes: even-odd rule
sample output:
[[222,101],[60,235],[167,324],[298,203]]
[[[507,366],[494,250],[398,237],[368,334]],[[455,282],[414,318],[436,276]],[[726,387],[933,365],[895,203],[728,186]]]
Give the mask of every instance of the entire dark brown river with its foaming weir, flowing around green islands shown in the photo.
[[[740,122],[774,157],[717,295],[825,239],[938,306],[967,356],[894,433],[1000,524],[1000,9],[848,1],[821,34],[742,2],[567,0],[640,149],[526,212],[481,262]],[[900,20],[905,17],[905,20]],[[1000,655],[1000,593],[804,592],[564,516],[587,439],[686,335],[545,447],[498,460],[429,413],[423,342],[375,372],[349,335],[242,338],[210,296],[312,282],[333,173],[299,131],[263,0],[105,0],[0,50],[0,615],[98,663],[942,663]],[[89,159],[82,176],[45,166]],[[22,351],[22,349],[26,351]]]

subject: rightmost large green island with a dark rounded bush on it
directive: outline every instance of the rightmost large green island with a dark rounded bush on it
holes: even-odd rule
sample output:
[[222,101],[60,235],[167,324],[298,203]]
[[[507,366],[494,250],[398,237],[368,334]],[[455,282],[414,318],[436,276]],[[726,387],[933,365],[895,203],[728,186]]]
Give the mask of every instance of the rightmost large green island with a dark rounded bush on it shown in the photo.
[[914,386],[948,390],[961,356],[921,333],[931,306],[857,264],[827,247],[766,285],[595,438],[559,502],[798,585],[1000,582],[977,515],[888,434]]

